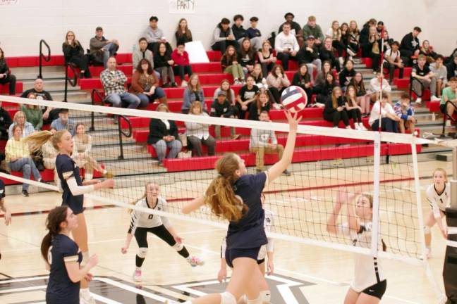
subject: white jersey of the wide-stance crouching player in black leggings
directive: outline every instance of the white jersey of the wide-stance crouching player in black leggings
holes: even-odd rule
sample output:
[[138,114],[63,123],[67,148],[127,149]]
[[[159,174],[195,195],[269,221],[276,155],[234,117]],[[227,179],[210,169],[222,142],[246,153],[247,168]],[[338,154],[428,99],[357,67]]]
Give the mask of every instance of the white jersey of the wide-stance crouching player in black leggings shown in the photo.
[[[155,205],[154,208],[150,208],[150,206],[147,205],[146,198],[142,198],[140,201],[135,203],[135,206],[164,211],[164,212],[168,211],[168,204],[166,203],[165,199],[162,198],[161,196],[157,197],[157,204]],[[171,223],[167,217],[153,215],[153,214],[149,214],[149,213],[143,213],[138,210],[133,210],[132,219],[130,220],[130,227],[128,229],[128,233],[135,234],[135,230],[138,227],[154,228],[154,227],[159,227],[162,224],[166,228],[171,226]]]

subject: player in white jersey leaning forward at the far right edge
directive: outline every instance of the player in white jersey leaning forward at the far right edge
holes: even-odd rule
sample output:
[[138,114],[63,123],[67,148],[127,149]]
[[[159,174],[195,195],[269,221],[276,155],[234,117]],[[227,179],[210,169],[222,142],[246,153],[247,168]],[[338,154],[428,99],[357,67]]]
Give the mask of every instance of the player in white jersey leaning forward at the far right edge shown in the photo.
[[451,203],[451,184],[448,182],[446,170],[437,168],[433,171],[433,184],[428,186],[425,194],[427,195],[430,207],[432,207],[432,210],[429,211],[425,219],[424,227],[425,258],[429,258],[432,253],[431,229],[434,224],[438,224],[441,235],[444,236],[444,239],[447,239],[447,229],[442,219],[446,215],[446,208]]

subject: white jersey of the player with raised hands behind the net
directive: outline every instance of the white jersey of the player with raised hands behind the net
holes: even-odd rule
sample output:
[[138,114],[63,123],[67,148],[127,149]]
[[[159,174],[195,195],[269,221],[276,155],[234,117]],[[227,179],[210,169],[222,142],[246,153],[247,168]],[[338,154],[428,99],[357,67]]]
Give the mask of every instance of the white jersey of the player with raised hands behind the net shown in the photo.
[[[371,248],[372,223],[360,223],[360,231],[354,232],[349,229],[348,224],[340,227],[340,231],[346,236],[351,236],[353,246]],[[379,239],[379,246],[382,248],[382,241]],[[360,253],[354,254],[355,273],[351,288],[360,293],[374,284],[384,281],[386,275],[382,269],[379,259],[370,255]]]

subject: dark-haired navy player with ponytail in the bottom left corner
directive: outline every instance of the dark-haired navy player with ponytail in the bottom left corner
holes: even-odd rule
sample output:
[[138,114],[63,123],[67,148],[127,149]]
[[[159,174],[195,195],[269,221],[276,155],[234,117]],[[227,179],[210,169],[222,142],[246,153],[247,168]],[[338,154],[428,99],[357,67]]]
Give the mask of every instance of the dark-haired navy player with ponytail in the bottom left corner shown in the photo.
[[70,233],[78,228],[78,217],[66,205],[49,212],[46,220],[49,232],[41,244],[42,257],[51,270],[46,289],[47,304],[80,304],[80,281],[90,281],[90,269],[97,265],[97,255],[92,255],[80,267],[83,255]]

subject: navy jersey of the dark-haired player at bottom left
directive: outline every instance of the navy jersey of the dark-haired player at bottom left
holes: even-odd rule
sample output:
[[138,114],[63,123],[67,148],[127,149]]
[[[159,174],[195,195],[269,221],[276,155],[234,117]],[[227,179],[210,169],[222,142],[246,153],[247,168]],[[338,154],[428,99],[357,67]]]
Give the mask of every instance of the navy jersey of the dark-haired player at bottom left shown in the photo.
[[78,245],[64,234],[57,234],[51,241],[48,262],[51,265],[49,282],[46,289],[47,303],[79,303],[80,282],[73,283],[68,277],[66,262],[80,262],[83,254]]

